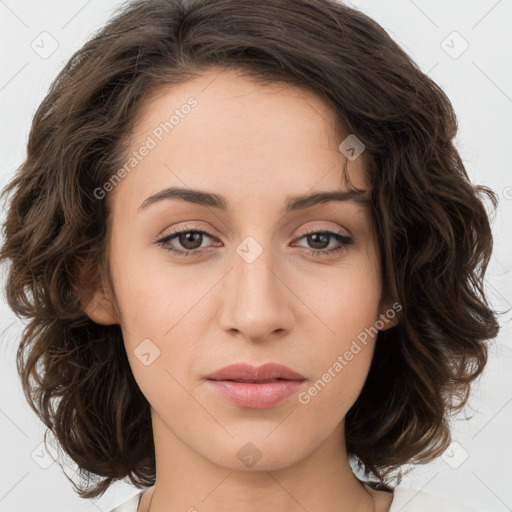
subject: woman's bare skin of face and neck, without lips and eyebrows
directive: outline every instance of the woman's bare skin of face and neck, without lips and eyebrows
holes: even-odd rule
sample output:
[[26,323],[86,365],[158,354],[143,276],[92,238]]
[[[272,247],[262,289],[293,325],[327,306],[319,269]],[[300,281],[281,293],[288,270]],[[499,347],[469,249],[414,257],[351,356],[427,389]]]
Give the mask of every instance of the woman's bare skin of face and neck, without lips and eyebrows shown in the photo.
[[[132,150],[190,96],[198,105],[107,198],[119,309],[101,286],[85,306],[95,322],[121,325],[151,405],[157,481],[139,510],[151,496],[151,512],[372,511],[374,502],[375,510],[389,510],[390,493],[365,489],[355,478],[344,437],[344,417],[361,392],[376,338],[306,405],[292,395],[275,407],[240,408],[203,379],[233,362],[273,361],[304,375],[307,389],[390,307],[381,304],[368,208],[333,201],[281,211],[291,194],[346,188],[333,114],[309,90],[208,70],[146,100]],[[363,158],[348,169],[368,195]],[[139,209],[169,186],[220,194],[229,209],[179,199]],[[207,252],[178,256],[155,243],[184,226],[208,235],[196,245],[184,237],[168,245]],[[308,239],[304,232],[313,229],[341,230],[353,243],[313,255],[342,245],[334,237]],[[236,251],[247,236],[262,248],[251,263]],[[134,352],[146,339],[160,350],[148,366]],[[261,453],[250,468],[237,456],[248,442]]]

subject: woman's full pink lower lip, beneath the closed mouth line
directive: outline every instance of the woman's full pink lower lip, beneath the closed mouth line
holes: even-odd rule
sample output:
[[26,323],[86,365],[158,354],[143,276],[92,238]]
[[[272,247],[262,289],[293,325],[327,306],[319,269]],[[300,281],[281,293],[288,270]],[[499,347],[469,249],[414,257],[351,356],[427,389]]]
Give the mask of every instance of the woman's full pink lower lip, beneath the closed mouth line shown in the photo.
[[228,402],[239,407],[266,409],[280,404],[296,393],[304,380],[279,380],[275,382],[237,382],[232,380],[210,380],[210,386]]

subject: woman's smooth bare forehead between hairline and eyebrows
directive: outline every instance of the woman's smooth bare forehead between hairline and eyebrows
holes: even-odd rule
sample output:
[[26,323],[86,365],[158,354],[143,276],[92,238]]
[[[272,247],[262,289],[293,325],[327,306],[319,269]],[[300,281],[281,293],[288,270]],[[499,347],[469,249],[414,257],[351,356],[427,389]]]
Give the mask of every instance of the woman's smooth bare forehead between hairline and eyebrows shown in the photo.
[[[114,194],[129,183],[137,206],[164,186],[246,198],[304,194],[315,184],[344,188],[347,160],[332,109],[305,87],[263,84],[238,71],[162,86],[144,101],[131,139],[130,152],[148,140],[152,147]],[[350,179],[368,188],[358,160]]]

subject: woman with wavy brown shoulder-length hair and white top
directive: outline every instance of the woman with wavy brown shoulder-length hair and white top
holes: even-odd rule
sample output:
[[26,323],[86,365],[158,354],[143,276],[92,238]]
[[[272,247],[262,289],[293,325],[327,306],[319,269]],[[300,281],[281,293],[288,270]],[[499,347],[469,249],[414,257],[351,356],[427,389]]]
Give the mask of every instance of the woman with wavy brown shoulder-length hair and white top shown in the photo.
[[80,49],[1,252],[24,390],[96,480],[80,496],[128,477],[116,512],[469,510],[399,485],[450,445],[498,332],[496,197],[455,133],[331,0],[138,1]]

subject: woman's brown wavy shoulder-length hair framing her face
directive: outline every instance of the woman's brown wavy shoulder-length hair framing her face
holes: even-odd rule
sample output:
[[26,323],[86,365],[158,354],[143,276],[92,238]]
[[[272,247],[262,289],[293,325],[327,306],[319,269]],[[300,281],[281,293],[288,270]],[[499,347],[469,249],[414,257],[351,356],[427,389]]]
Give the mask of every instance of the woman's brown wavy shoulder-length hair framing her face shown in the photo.
[[447,448],[449,415],[486,365],[499,325],[484,291],[493,243],[484,199],[495,209],[497,196],[471,184],[442,89],[380,25],[335,0],[135,1],[71,57],[3,192],[6,298],[29,319],[16,360],[27,400],[87,477],[75,485],[81,497],[125,477],[154,484],[149,404],[120,326],[84,313],[81,276],[115,299],[108,195],[94,191],[125,161],[145,98],[212,67],[308,88],[335,114],[339,140],[356,134],[366,146],[383,289],[402,310],[379,332],[346,442],[385,484]]

